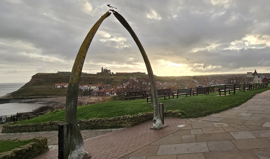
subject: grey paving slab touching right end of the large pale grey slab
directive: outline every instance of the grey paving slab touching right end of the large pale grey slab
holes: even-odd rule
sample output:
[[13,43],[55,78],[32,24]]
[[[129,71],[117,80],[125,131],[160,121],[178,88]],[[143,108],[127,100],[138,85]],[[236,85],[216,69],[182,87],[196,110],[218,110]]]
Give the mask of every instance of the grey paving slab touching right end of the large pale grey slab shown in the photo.
[[231,151],[238,150],[231,140],[206,142],[209,151]]

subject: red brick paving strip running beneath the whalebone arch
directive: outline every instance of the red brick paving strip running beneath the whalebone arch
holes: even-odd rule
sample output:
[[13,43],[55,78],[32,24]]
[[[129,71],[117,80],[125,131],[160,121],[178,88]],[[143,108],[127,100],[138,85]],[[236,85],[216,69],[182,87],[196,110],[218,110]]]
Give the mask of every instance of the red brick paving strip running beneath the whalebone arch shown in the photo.
[[[177,125],[191,124],[189,119],[179,118],[165,118],[164,122],[168,127],[160,130],[150,130],[150,127],[153,126],[153,124],[152,121],[149,120],[130,128],[85,140],[84,149],[85,151],[90,152],[93,159],[121,158],[166,135],[180,130],[181,128],[177,127]],[[53,149],[36,158],[51,159],[57,158],[57,155],[58,149]]]

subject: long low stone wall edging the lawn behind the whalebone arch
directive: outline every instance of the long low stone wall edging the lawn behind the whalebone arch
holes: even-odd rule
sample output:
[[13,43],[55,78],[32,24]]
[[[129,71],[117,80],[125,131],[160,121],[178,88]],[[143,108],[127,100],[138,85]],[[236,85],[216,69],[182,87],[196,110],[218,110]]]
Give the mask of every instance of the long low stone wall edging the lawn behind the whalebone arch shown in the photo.
[[[179,111],[164,110],[164,117],[180,117],[181,115]],[[145,114],[116,116],[114,118],[83,119],[78,121],[78,125],[80,130],[124,128],[153,119],[153,117],[154,113],[148,112]],[[58,131],[58,125],[63,123],[63,121],[49,121],[38,124],[3,125],[2,133]]]

